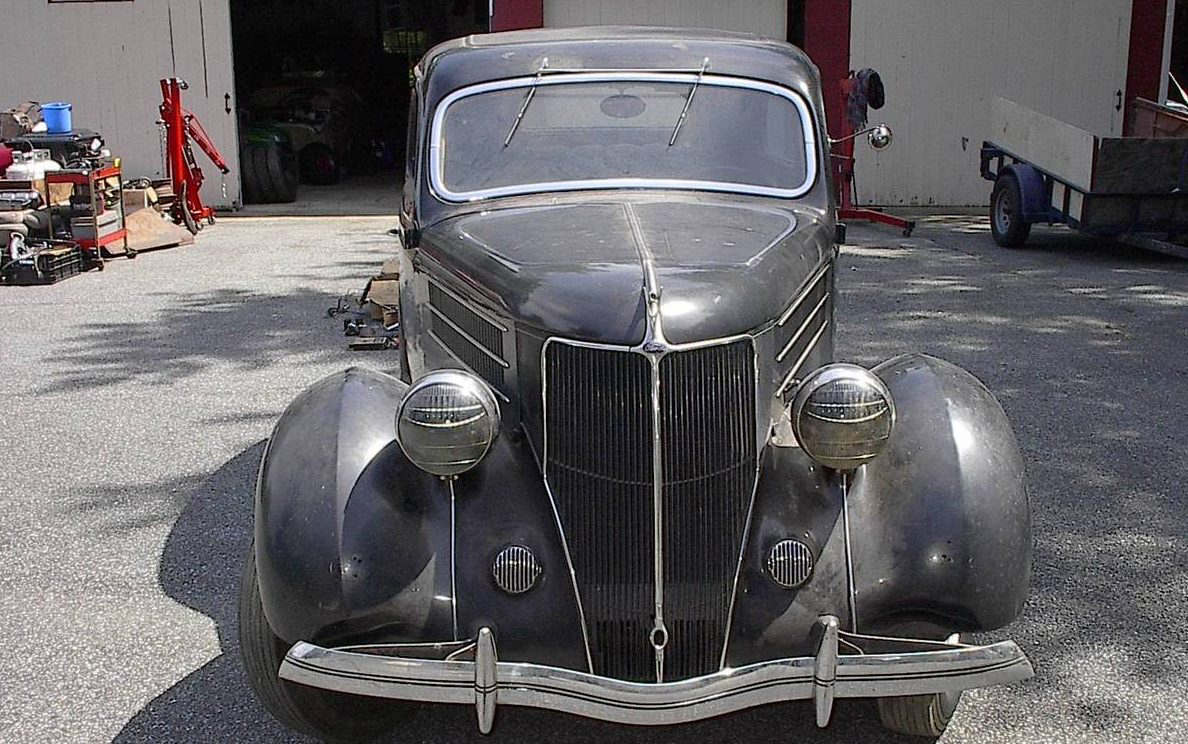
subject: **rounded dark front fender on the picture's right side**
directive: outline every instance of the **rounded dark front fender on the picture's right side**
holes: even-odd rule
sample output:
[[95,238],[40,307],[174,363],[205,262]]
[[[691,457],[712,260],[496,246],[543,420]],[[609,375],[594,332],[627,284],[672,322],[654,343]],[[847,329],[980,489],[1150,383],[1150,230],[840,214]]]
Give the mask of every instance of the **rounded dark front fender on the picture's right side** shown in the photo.
[[972,374],[933,357],[896,357],[874,372],[897,422],[847,494],[857,626],[1006,625],[1031,575],[1031,511],[1006,415]]

